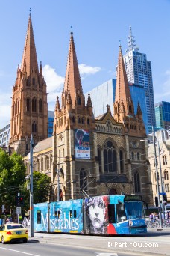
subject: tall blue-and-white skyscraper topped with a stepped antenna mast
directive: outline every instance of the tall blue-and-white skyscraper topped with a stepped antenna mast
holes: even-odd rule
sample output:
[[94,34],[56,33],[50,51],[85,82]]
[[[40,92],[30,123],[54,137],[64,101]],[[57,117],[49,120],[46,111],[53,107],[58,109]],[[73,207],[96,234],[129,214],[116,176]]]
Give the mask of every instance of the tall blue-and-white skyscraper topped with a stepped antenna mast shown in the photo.
[[128,49],[124,55],[124,62],[127,73],[127,81],[137,85],[142,85],[145,88],[148,127],[151,129],[151,126],[156,126],[151,61],[148,61],[146,54],[140,53],[139,48],[136,47],[131,27],[130,35],[128,37]]

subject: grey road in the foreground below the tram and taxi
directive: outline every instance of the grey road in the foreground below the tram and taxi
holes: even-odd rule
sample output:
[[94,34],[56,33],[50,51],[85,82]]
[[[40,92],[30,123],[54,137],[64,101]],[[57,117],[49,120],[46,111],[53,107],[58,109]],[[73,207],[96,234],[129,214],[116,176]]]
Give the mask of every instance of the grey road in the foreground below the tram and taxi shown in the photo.
[[137,237],[100,237],[35,233],[28,243],[0,243],[1,256],[130,256],[170,255],[170,230]]

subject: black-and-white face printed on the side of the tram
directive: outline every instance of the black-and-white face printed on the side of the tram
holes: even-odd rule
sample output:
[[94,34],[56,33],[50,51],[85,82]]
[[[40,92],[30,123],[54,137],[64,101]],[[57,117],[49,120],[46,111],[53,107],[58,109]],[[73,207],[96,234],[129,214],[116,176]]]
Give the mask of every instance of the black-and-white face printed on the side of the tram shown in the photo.
[[95,231],[98,229],[98,232],[101,232],[104,229],[104,213],[105,204],[101,197],[89,199],[89,219]]

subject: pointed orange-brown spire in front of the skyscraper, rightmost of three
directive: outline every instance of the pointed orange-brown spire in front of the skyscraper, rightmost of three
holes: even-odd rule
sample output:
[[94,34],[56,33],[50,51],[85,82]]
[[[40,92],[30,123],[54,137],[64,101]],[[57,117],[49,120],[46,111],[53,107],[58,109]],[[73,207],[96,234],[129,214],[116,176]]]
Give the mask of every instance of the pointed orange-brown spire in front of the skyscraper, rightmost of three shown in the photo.
[[118,67],[117,67],[117,78],[116,78],[116,96],[115,102],[125,106],[125,112],[127,110],[127,101],[130,99],[130,90],[127,82],[127,75],[125,70],[125,64],[122,55],[122,48],[119,46],[119,58],[118,58]]

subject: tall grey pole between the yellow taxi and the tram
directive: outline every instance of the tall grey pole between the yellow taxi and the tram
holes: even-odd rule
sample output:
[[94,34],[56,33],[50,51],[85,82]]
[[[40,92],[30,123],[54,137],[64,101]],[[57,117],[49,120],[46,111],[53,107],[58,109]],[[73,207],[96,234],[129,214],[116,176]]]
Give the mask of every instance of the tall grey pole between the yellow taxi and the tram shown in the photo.
[[31,237],[34,237],[34,209],[33,209],[33,135],[30,140],[30,231]]

